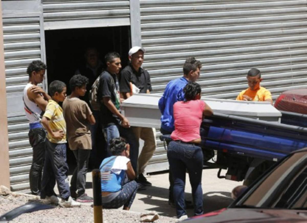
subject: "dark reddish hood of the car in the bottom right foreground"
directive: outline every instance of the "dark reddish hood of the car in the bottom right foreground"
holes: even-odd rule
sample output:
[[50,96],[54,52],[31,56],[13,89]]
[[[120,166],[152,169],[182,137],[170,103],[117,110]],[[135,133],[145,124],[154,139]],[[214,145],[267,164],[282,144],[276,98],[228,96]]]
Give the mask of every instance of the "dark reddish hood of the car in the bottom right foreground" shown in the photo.
[[190,218],[186,223],[306,223],[307,210],[229,208]]

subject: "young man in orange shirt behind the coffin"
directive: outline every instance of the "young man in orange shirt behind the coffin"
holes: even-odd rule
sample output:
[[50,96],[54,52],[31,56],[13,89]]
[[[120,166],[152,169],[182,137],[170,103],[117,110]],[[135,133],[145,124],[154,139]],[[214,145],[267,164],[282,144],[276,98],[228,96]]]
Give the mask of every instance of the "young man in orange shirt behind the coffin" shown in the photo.
[[248,88],[241,91],[236,100],[241,101],[269,101],[273,105],[272,96],[269,90],[260,87],[262,81],[261,72],[256,68],[252,68],[247,73]]

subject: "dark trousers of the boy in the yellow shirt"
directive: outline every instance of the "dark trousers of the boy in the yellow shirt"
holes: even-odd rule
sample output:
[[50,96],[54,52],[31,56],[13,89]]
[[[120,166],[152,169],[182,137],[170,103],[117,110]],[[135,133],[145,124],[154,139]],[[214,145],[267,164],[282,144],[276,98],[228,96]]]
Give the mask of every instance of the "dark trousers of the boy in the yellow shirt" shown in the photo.
[[41,198],[55,195],[53,188],[57,187],[61,198],[70,196],[68,183],[68,165],[66,162],[66,144],[52,143],[46,139],[46,155],[41,182]]

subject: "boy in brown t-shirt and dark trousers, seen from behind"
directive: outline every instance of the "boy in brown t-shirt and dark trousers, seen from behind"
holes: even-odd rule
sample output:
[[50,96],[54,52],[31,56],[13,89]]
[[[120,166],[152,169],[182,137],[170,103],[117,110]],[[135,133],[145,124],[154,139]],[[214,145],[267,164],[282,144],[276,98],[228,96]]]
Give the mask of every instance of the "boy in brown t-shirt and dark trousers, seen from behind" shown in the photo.
[[[87,77],[80,74],[74,75],[69,81],[72,93],[63,102],[68,143],[77,161],[77,167],[72,174],[70,183],[70,193],[78,202],[93,201],[93,198],[85,193],[85,178],[92,149],[89,125],[95,124],[95,118],[87,103],[79,99],[86,93],[87,83]],[[78,193],[76,193],[77,190]]]

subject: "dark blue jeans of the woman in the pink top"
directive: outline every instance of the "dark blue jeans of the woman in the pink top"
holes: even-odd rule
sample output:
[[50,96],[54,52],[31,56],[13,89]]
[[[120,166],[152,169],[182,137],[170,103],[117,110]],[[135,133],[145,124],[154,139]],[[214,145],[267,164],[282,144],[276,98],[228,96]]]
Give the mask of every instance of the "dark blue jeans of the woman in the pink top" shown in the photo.
[[201,175],[203,171],[203,152],[199,146],[172,141],[167,148],[167,158],[174,178],[174,198],[177,217],[186,214],[185,211],[185,171],[188,170],[194,214],[203,214],[203,190]]

